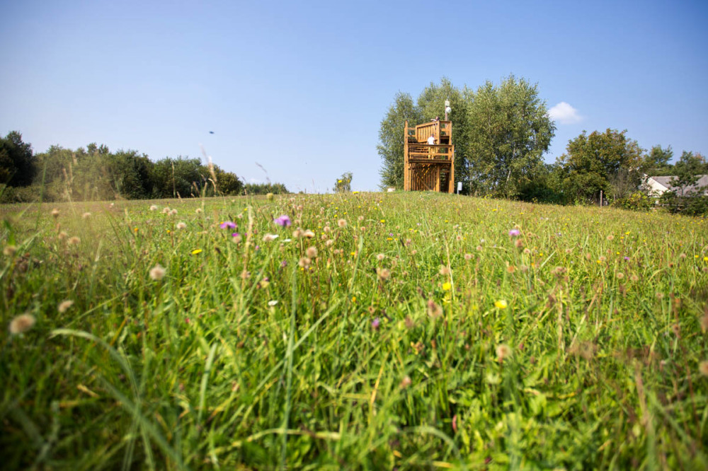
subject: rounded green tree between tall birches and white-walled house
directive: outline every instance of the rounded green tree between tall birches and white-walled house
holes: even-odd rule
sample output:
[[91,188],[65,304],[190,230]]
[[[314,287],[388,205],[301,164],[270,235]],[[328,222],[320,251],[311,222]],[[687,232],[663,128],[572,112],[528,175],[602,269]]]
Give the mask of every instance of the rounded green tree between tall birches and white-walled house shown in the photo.
[[[600,190],[622,198],[641,185],[643,149],[625,134],[607,129],[571,139],[558,158],[566,197],[579,202],[595,201]],[[613,191],[614,190],[614,191]]]

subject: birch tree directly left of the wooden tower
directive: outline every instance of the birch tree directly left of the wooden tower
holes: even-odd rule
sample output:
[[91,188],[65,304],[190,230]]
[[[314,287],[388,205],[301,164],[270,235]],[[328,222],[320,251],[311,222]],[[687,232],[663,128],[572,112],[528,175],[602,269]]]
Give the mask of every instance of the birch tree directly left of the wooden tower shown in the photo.
[[396,93],[394,103],[389,107],[379,128],[379,144],[376,146],[382,158],[381,187],[403,189],[404,164],[404,126],[417,124],[420,113],[413,105],[413,98],[408,93]]

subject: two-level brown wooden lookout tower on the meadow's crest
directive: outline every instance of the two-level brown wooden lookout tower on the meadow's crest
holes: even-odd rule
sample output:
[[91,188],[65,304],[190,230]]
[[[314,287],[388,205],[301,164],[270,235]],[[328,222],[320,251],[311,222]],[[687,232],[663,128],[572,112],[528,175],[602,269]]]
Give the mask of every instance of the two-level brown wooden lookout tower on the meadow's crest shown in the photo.
[[452,122],[436,118],[409,127],[406,120],[404,139],[404,190],[455,192]]

